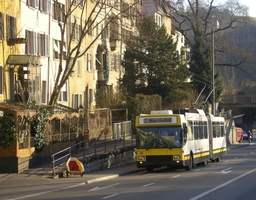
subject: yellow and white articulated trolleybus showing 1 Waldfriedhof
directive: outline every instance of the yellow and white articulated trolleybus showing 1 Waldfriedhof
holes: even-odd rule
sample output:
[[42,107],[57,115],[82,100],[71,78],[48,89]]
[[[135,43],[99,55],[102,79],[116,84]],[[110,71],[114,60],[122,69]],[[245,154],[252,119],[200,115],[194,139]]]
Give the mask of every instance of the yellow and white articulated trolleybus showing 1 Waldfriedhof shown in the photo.
[[191,170],[208,161],[219,162],[226,153],[223,117],[203,110],[156,110],[136,116],[136,162],[152,172],[168,166]]

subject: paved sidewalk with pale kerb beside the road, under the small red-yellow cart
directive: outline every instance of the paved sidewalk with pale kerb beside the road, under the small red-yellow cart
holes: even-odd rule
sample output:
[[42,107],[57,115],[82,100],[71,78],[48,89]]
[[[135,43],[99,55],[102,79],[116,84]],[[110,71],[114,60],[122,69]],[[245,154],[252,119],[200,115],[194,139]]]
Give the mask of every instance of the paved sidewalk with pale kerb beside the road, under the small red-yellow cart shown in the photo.
[[[254,140],[252,140],[252,145],[255,145]],[[227,151],[232,149],[232,148],[239,148],[242,146],[248,146],[248,140],[243,140],[242,143],[238,144],[230,144],[227,145]],[[119,146],[120,148],[120,146]],[[83,156],[77,157],[78,160],[83,159]],[[33,178],[35,182],[42,180],[42,178],[66,178],[63,174],[63,171],[66,170],[65,165],[61,166],[58,171],[56,171],[56,175],[53,175],[52,173],[52,162],[48,162],[46,164],[37,166],[36,168],[24,170],[23,172],[19,174],[8,174],[8,173],[0,173],[0,188],[1,184],[7,180],[8,178],[12,178],[15,176],[15,178],[25,178],[25,177],[30,177]],[[110,178],[116,178],[118,176],[125,176],[128,174],[136,173],[139,171],[146,170],[144,168],[140,169],[136,167],[136,164],[128,164],[125,166],[120,166],[116,168],[106,168],[106,169],[101,169],[101,170],[96,170],[93,172],[86,172],[83,175],[83,178],[85,178],[85,183],[90,184],[93,182],[98,182],[101,180],[107,180]],[[71,175],[71,176],[79,176],[80,175]]]

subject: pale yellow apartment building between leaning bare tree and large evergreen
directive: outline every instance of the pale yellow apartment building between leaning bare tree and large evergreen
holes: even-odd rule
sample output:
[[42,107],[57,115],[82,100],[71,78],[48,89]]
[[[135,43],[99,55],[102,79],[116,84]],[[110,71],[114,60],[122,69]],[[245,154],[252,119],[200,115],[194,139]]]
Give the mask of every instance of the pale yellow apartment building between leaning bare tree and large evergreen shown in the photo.
[[[82,105],[85,109],[92,109],[96,105],[97,87],[104,85],[108,92],[112,92],[118,86],[118,79],[124,75],[120,64],[125,50],[123,36],[134,34],[136,6],[134,0],[85,1],[72,5],[75,10],[68,23],[70,27],[67,27],[71,47],[79,44],[81,34],[86,34],[79,49],[81,57],[76,60],[69,78],[70,107]],[[92,10],[95,12],[91,13]]]

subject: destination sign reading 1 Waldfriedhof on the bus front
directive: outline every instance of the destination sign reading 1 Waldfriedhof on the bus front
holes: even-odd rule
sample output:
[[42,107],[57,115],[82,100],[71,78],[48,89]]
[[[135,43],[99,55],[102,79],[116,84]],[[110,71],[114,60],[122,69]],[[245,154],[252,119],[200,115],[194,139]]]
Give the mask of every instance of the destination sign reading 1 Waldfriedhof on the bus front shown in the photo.
[[177,124],[177,117],[140,117],[139,124]]

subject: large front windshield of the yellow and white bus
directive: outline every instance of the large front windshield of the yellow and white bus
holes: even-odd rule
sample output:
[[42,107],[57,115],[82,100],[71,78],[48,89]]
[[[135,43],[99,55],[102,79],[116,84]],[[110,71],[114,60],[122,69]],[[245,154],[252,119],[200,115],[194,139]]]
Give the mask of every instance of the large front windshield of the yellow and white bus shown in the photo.
[[137,128],[137,148],[180,148],[182,147],[182,128],[141,127]]

